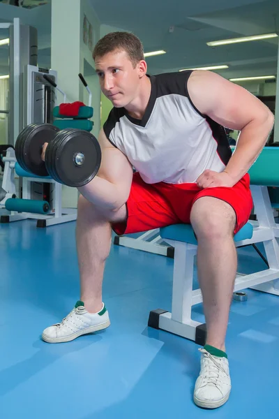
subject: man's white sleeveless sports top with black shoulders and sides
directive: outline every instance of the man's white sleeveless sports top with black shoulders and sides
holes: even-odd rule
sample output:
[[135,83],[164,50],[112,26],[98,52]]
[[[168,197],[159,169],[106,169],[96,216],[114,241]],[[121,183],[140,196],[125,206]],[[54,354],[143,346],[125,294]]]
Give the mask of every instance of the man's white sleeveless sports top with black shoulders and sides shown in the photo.
[[225,128],[202,115],[190,99],[191,72],[150,76],[144,117],[112,108],[103,126],[107,139],[146,183],[194,183],[206,169],[223,171],[232,156]]

